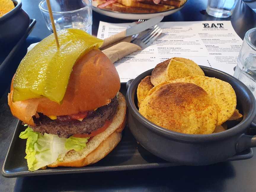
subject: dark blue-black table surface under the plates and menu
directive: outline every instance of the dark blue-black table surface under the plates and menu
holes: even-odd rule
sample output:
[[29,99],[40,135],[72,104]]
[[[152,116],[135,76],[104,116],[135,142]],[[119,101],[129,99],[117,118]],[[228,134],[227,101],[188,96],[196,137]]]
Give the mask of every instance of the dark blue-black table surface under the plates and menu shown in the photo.
[[[48,31],[39,11],[40,0],[22,0],[22,7],[37,23],[17,54],[15,67],[27,46],[45,38]],[[243,39],[245,32],[256,26],[256,13],[244,2],[238,2],[233,15],[218,19],[205,12],[207,0],[189,0],[184,9],[163,21],[231,20],[236,33]],[[138,18],[140,19],[140,18]],[[99,21],[127,23],[93,12],[92,33],[97,35]],[[13,73],[14,73],[13,72]],[[6,79],[8,85],[11,77]],[[1,82],[2,83],[2,82]],[[2,88],[2,87],[1,87]],[[4,161],[13,130],[17,123],[7,105],[7,93],[0,100],[0,165]],[[25,149],[20,149],[25,150]],[[254,149],[254,153],[256,150]],[[179,166],[160,169],[102,172],[70,175],[4,178],[0,176],[0,191],[256,191],[256,157],[248,160],[222,162],[208,166]]]

